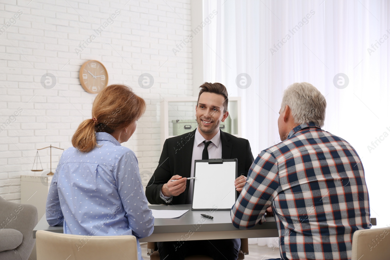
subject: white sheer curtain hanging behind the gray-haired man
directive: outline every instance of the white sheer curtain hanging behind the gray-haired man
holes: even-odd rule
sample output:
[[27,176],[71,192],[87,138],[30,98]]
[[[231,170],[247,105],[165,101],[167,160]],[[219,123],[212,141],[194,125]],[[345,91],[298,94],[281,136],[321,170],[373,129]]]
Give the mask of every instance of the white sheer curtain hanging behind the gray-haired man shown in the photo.
[[[362,159],[376,227],[390,225],[390,3],[204,0],[204,16],[213,10],[204,28],[204,81],[242,97],[243,137],[254,155],[280,141],[283,90],[312,83],[326,96],[323,129],[349,141]],[[240,73],[250,76],[248,88],[236,85]],[[347,75],[346,87],[335,87],[338,73]]]

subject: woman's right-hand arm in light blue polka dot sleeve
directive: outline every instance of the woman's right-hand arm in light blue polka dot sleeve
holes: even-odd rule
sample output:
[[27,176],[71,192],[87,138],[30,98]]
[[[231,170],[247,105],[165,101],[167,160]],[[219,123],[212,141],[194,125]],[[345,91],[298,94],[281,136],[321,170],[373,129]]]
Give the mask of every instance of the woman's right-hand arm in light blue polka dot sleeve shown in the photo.
[[129,228],[138,238],[148,237],[154,230],[154,217],[147,206],[137,157],[132,150],[128,150],[119,158],[116,166],[115,181]]

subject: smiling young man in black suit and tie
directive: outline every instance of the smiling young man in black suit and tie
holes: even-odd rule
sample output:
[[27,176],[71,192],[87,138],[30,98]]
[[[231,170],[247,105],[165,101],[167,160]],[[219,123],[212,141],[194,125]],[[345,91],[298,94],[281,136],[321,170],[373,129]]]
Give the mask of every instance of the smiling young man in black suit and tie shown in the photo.
[[[219,125],[229,115],[228,94],[221,83],[205,82],[200,86],[195,106],[197,129],[165,140],[159,165],[146,187],[151,204],[191,204],[194,161],[200,159],[238,159],[238,178],[234,180],[240,192],[254,161],[249,141],[224,133]],[[170,182],[170,180],[175,180]],[[233,180],[232,180],[233,185]],[[192,254],[209,255],[213,259],[238,257],[240,239],[158,242],[160,259],[180,260]]]

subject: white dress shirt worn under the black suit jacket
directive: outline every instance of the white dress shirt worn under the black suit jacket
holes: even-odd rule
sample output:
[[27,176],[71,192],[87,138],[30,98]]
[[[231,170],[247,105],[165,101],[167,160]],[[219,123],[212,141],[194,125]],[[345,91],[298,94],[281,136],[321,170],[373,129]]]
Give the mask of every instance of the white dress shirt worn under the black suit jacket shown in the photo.
[[[209,152],[209,159],[219,159],[222,158],[222,144],[221,144],[221,131],[218,131],[218,133],[215,134],[211,140],[206,140],[202,134],[199,133],[199,129],[197,128],[195,131],[195,139],[194,139],[194,145],[192,147],[192,158],[191,158],[191,177],[194,176],[194,166],[195,166],[195,160],[202,160],[202,154],[204,149],[204,143],[203,141],[211,141],[212,143],[209,144],[207,147],[207,151]],[[192,203],[192,182],[194,180],[190,180],[190,186],[188,189],[188,195],[187,195],[187,204]],[[165,202],[169,203],[172,201],[172,196],[166,197],[163,195],[163,193],[160,190],[160,197]]]

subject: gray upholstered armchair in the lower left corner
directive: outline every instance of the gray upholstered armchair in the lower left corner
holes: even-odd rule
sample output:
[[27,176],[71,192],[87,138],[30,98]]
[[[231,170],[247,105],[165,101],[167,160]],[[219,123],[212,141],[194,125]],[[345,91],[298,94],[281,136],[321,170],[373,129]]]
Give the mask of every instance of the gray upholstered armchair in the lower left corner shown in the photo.
[[37,208],[0,196],[0,259],[27,260],[34,247],[32,230],[38,223]]

